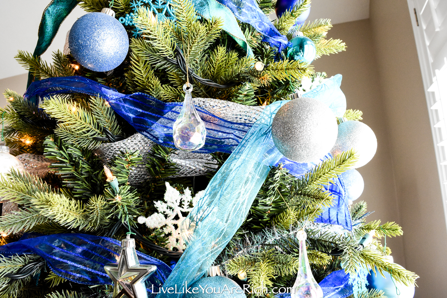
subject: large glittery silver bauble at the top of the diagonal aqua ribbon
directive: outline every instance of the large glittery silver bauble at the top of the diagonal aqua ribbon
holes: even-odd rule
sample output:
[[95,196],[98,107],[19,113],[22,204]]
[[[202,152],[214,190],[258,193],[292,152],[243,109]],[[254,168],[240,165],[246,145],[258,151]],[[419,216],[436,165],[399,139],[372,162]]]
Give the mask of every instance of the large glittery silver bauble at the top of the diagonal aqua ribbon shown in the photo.
[[272,123],[275,146],[288,159],[300,163],[325,156],[337,139],[337,120],[327,105],[300,97],[287,102]]

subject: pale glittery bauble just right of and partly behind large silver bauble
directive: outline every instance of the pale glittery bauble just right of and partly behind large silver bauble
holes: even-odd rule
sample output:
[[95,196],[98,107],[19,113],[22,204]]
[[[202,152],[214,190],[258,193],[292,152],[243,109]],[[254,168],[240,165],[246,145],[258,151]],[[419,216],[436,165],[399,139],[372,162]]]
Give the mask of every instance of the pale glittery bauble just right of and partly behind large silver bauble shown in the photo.
[[360,168],[367,164],[377,150],[377,139],[374,131],[363,122],[346,121],[338,125],[338,136],[330,153],[333,157],[349,151],[351,148],[357,152],[358,161],[353,168]]

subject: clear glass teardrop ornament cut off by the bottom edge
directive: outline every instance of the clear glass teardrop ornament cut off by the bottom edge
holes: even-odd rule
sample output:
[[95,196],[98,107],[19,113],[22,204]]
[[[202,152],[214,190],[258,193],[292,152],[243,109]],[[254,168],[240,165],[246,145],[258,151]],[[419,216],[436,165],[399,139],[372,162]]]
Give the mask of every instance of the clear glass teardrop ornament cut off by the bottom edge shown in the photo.
[[306,250],[306,232],[299,230],[296,233],[296,238],[299,240],[299,264],[291,298],[323,298],[323,290],[313,278],[310,269]]

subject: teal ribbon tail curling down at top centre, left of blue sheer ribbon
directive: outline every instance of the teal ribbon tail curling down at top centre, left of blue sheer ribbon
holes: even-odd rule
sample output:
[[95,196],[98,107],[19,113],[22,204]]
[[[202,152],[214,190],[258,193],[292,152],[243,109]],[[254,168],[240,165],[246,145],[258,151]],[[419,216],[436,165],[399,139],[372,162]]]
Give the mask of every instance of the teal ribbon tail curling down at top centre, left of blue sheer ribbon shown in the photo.
[[234,38],[234,40],[247,52],[247,57],[253,56],[253,50],[249,46],[245,35],[236,21],[231,10],[216,0],[192,0],[196,12],[207,20],[219,17],[223,21],[222,29]]

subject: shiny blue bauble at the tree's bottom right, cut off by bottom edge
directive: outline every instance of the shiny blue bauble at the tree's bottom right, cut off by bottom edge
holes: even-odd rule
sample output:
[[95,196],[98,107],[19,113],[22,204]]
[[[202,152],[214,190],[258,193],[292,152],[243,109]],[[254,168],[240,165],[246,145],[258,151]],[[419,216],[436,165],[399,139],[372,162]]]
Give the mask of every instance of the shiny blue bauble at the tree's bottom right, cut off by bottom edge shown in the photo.
[[[377,272],[377,270],[376,270]],[[375,273],[370,270],[367,281],[369,285],[367,285],[367,289],[377,289],[384,291],[384,295],[387,298],[413,298],[414,296],[414,285],[407,286],[404,284],[401,284],[400,282],[397,282],[394,280],[394,282],[391,279],[391,275],[388,272],[383,271],[383,276],[380,275],[380,273],[377,272],[377,276]],[[395,285],[396,284],[396,285]],[[397,287],[397,293],[400,293],[399,296],[396,294],[396,287]]]

